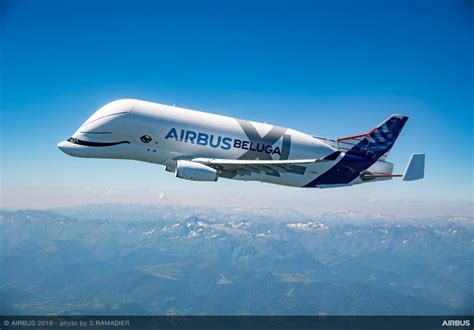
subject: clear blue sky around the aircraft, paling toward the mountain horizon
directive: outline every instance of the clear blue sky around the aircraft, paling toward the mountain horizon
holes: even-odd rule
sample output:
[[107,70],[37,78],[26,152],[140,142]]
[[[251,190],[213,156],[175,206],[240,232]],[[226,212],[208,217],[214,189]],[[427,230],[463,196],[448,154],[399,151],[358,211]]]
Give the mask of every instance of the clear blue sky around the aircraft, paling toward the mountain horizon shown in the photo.
[[[92,202],[473,213],[469,1],[3,1],[1,207]],[[335,190],[76,159],[56,148],[97,108],[139,98],[329,137],[409,115],[390,155],[426,179]],[[124,178],[124,173],[126,176]]]

